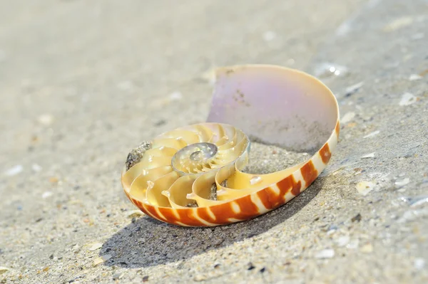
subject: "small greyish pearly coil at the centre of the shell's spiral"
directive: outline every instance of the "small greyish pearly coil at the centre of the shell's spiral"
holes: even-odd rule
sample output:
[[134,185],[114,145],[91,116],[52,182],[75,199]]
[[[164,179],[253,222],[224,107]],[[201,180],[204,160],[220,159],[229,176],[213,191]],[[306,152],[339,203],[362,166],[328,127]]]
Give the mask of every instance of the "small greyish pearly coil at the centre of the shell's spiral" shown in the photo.
[[175,153],[172,166],[180,174],[196,174],[210,170],[218,147],[213,143],[190,144]]

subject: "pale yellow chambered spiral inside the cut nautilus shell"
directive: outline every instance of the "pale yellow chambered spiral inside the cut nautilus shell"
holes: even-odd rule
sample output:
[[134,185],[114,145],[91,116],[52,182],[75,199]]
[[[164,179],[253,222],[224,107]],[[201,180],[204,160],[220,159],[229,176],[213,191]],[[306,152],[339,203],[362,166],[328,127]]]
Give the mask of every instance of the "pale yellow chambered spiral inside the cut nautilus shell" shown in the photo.
[[181,127],[155,137],[141,161],[124,174],[123,182],[129,192],[138,193],[143,203],[153,206],[178,209],[219,204],[230,199],[221,185],[225,174],[245,165],[249,148],[248,137],[232,125]]

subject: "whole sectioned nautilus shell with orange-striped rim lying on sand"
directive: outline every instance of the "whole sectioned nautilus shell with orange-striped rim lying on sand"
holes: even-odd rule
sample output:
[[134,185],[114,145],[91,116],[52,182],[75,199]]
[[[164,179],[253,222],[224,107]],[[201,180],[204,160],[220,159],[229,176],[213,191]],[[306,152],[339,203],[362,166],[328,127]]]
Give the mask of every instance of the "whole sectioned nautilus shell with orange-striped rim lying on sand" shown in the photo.
[[[207,122],[133,149],[123,189],[145,214],[175,225],[253,219],[314,182],[330,161],[339,129],[335,96],[311,75],[275,65],[220,68]],[[252,140],[315,154],[278,172],[249,174],[243,167]]]

